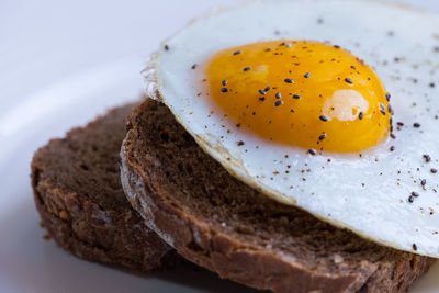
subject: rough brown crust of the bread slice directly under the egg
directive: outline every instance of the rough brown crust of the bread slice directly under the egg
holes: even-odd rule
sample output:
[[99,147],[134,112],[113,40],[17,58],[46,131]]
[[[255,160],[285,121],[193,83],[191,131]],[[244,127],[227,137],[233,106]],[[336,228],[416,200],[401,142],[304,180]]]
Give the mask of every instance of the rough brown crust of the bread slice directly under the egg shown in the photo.
[[[304,262],[297,261],[300,256],[262,247],[256,241],[238,239],[225,228],[206,223],[205,218],[200,217],[190,207],[179,205],[173,200],[175,194],[170,194],[166,189],[167,183],[164,183],[172,184],[165,171],[161,174],[164,178],[160,184],[156,182],[157,170],[160,170],[160,166],[169,165],[169,161],[160,159],[155,154],[145,154],[137,149],[136,144],[139,139],[153,142],[153,137],[144,136],[160,127],[167,128],[168,133],[171,132],[172,139],[185,135],[183,128],[180,125],[177,126],[175,120],[169,124],[162,121],[157,123],[147,121],[147,116],[155,112],[160,112],[160,115],[171,115],[164,108],[155,101],[146,101],[134,111],[121,149],[121,178],[128,201],[145,218],[148,227],[188,260],[218,273],[222,278],[274,292],[406,292],[434,262],[427,257],[382,248],[367,240],[357,239],[358,237],[352,235],[351,237],[357,237],[356,241],[364,243],[364,247],[372,251],[371,256],[372,253],[374,253],[373,257],[382,255],[382,260],[368,261],[358,257],[358,261],[352,262],[353,266],[358,266],[356,270],[327,269],[325,271],[318,267],[313,269],[315,263],[306,267]],[[155,142],[151,144],[160,148],[160,144]],[[189,144],[192,144],[190,151],[202,151],[194,148],[193,139]],[[166,146],[162,147],[164,149],[157,149],[157,153],[161,150],[165,153]],[[184,149],[177,147],[172,151],[176,157],[188,155]],[[201,168],[201,166],[196,165],[195,168]],[[215,165],[212,164],[212,166]],[[214,171],[217,170],[219,169],[214,167]],[[233,180],[230,177],[230,182]],[[185,188],[184,193],[189,193],[188,196],[190,196],[191,191],[188,187],[181,188]],[[210,196],[209,192],[205,195]],[[251,227],[251,223],[249,225],[250,230],[256,229]],[[340,235],[350,235],[349,232],[338,228],[331,229]],[[373,252],[374,250],[378,252]],[[328,260],[334,258],[337,256],[327,256]],[[329,264],[322,266],[330,268]]]

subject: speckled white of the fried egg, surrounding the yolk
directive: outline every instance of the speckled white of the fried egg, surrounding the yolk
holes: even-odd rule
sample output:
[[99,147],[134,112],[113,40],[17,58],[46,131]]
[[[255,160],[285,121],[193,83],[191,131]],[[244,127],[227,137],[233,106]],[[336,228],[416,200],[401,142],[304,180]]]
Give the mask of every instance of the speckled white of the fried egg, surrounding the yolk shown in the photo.
[[[438,29],[437,15],[382,1],[247,2],[167,40],[145,70],[147,89],[206,153],[266,195],[380,244],[438,258],[439,173],[430,171],[439,167]],[[224,119],[192,66],[224,48],[280,38],[337,44],[371,65],[392,93],[393,121],[405,123],[396,139],[361,154],[311,156]],[[409,203],[412,192],[419,196]]]

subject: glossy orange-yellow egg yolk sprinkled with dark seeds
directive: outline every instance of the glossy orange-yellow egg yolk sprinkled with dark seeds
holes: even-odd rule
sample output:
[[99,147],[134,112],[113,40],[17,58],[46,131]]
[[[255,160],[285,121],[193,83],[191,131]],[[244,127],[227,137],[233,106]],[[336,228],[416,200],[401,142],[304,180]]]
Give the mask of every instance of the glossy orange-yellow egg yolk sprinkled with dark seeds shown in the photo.
[[390,94],[350,52],[319,42],[227,48],[207,65],[210,97],[266,139],[314,150],[359,151],[390,133]]

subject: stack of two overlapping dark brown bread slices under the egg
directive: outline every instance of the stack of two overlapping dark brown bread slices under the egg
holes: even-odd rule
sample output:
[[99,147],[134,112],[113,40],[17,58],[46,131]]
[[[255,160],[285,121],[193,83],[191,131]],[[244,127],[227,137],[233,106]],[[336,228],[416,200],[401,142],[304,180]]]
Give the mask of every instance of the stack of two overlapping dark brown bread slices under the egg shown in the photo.
[[60,247],[140,271],[182,257],[260,290],[406,292],[434,262],[268,199],[145,98],[38,149],[32,184]]

